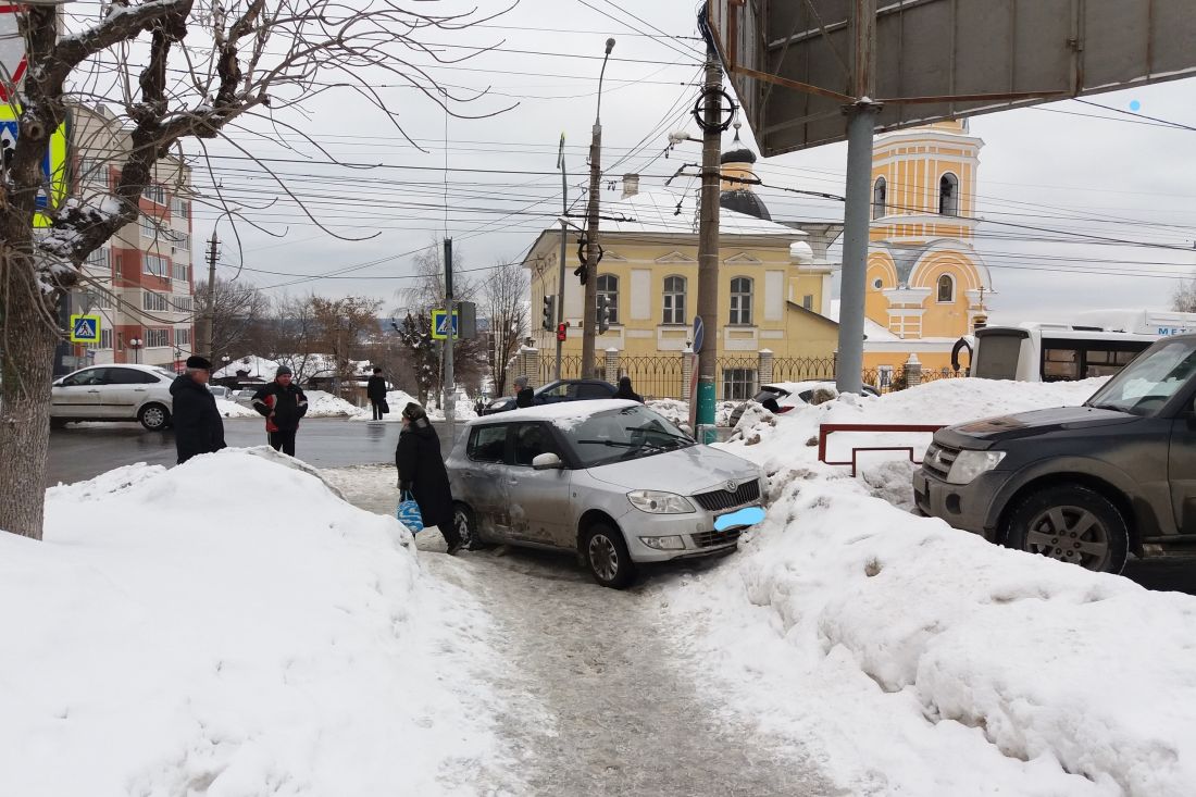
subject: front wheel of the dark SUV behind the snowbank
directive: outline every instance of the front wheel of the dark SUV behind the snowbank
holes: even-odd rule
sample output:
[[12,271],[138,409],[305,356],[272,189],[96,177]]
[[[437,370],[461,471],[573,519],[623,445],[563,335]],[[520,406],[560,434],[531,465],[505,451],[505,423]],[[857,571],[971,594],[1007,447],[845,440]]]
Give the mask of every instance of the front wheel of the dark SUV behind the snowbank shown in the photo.
[[1005,525],[1005,544],[1085,570],[1119,573],[1129,550],[1121,510],[1081,485],[1049,487],[1023,498]]

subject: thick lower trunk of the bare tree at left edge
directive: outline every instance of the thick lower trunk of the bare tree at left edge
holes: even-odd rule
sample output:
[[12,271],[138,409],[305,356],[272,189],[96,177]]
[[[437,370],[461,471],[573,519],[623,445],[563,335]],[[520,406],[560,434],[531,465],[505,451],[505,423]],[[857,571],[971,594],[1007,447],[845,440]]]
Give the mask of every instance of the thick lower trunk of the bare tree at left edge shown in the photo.
[[7,254],[0,270],[6,298],[0,321],[0,529],[41,540],[55,346],[45,312],[53,314],[53,300],[42,293],[28,257],[12,249]]

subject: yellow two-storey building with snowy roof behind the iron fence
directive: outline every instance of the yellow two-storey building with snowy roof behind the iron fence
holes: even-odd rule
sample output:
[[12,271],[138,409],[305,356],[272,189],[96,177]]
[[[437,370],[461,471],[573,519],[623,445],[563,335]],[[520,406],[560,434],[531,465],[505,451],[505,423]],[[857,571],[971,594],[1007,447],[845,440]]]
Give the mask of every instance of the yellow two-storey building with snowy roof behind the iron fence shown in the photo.
[[[736,150],[724,154],[722,162],[725,175],[750,175],[755,157]],[[838,326],[825,315],[831,292],[825,249],[819,248],[822,257],[816,257],[803,230],[727,209],[750,207],[752,196],[750,187],[726,183],[725,188],[719,224],[720,326],[713,334],[706,331],[702,351],[716,358],[719,397],[746,397],[762,381],[830,377]],[[617,357],[620,372],[630,375],[645,395],[684,395],[682,354],[697,315],[694,194],[640,193],[639,177],[626,175],[621,199],[604,197],[602,203],[598,292],[610,303],[611,323],[594,348],[600,360],[608,352]],[[531,274],[532,337],[543,363],[542,381],[553,372],[556,335],[541,327],[541,310],[545,296],[561,294],[560,249],[560,229],[548,229],[524,261]],[[572,231],[566,247],[563,293],[569,328],[562,376],[578,376],[581,370],[576,360],[582,286],[573,275],[576,251],[578,236]],[[585,371],[591,373],[592,367]]]

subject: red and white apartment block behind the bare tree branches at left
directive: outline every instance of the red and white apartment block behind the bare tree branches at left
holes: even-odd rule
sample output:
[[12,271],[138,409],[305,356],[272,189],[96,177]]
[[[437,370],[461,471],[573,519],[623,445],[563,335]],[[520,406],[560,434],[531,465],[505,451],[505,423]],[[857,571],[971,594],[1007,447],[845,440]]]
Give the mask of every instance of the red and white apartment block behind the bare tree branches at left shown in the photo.
[[[97,201],[111,194],[129,151],[127,132],[103,105],[71,109],[71,190]],[[191,170],[161,158],[140,200],[141,215],[84,267],[71,314],[100,317],[98,345],[75,346],[68,367],[142,363],[182,367],[195,346]]]

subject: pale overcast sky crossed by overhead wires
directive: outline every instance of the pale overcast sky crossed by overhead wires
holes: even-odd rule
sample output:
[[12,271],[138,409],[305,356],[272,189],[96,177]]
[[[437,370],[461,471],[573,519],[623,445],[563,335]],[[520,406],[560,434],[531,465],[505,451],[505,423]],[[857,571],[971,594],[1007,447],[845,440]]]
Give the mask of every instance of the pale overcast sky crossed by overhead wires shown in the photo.
[[[482,5],[499,7],[490,0]],[[562,132],[569,201],[582,197],[608,36],[617,44],[602,92],[604,170],[611,177],[639,171],[641,190],[660,189],[677,166],[700,154],[697,145],[684,144],[663,157],[670,130],[697,134],[688,114],[703,47],[692,0],[520,0],[484,26],[423,37],[444,59],[465,55],[468,45],[495,45],[469,61],[429,66],[428,73],[458,96],[489,89],[454,105],[458,112],[504,112],[446,120],[421,92],[397,85],[392,75],[379,78],[379,92],[399,110],[403,130],[422,152],[377,111],[343,96],[322,97],[305,108],[306,118],[287,121],[350,165],[331,164],[297,135],[263,123],[252,126],[262,135],[236,134],[239,145],[271,158],[267,165],[325,227],[368,239],[340,241],[321,230],[260,166],[228,144],[210,144],[226,195],[271,233],[242,223],[238,249],[228,221],[221,221],[219,274],[239,273],[274,294],[374,296],[390,310],[408,281],[413,253],[446,232],[468,268],[518,261],[560,213],[555,168]],[[432,63],[426,55],[416,60]],[[1076,310],[1170,305],[1178,276],[1196,270],[1194,96],[1196,84],[1179,80],[1090,98],[1117,110],[1069,101],[971,121],[971,132],[984,140],[977,202],[986,221],[977,249],[996,288],[994,320],[1067,320]],[[1166,123],[1119,112],[1130,103]],[[755,148],[746,126],[743,138]],[[730,144],[728,134],[725,148]],[[769,184],[842,194],[844,159],[846,146],[832,145],[767,159],[759,171]],[[196,184],[210,193],[212,177],[202,168]],[[697,182],[675,181],[677,188],[696,191]],[[777,219],[842,219],[840,202],[765,194]],[[215,215],[196,211],[197,263]]]

